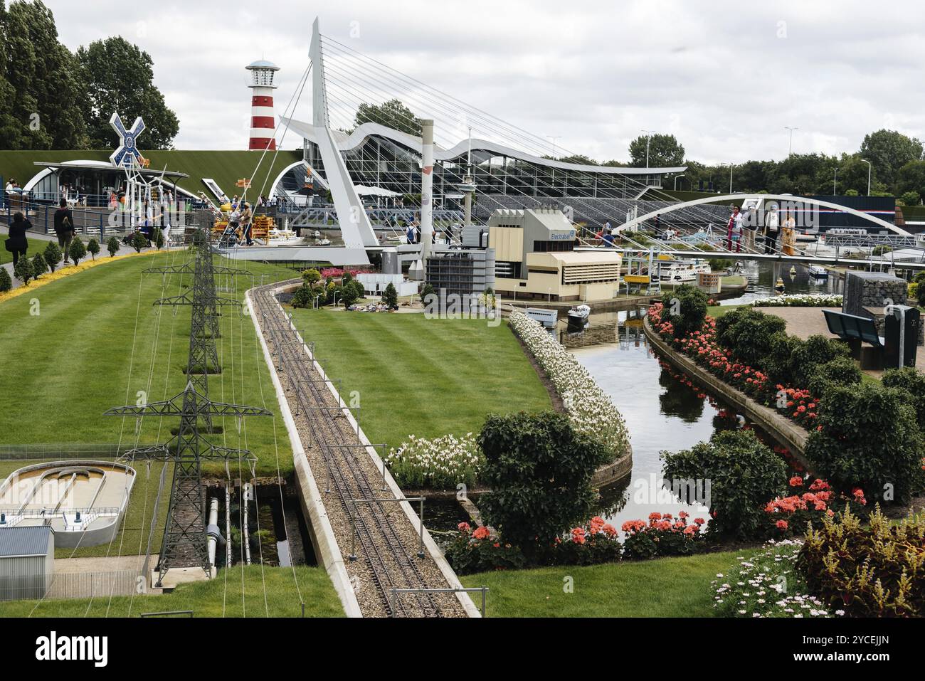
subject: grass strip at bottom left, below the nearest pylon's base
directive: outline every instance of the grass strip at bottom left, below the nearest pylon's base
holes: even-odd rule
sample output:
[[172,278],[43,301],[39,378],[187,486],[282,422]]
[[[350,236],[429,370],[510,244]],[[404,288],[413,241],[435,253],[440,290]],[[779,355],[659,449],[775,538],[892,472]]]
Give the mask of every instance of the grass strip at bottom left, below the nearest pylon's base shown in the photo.
[[160,596],[114,596],[112,602],[108,595],[93,601],[6,601],[0,603],[0,617],[135,617],[178,610],[191,610],[194,617],[265,617],[267,613],[270,617],[299,617],[300,591],[306,616],[343,616],[337,592],[324,568],[297,567],[293,576],[291,567],[265,567],[261,571],[260,565],[248,565],[223,570],[215,579],[184,584]]

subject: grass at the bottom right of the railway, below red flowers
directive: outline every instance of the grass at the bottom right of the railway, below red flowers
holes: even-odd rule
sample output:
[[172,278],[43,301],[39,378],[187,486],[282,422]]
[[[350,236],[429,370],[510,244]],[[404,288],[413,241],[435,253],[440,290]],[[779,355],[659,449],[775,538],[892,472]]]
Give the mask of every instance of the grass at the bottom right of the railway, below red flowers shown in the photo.
[[[749,551],[683,558],[564,565],[463,576],[466,587],[488,587],[489,617],[710,617],[709,583]],[[573,592],[566,593],[572,577]],[[473,594],[477,601],[479,594]]]

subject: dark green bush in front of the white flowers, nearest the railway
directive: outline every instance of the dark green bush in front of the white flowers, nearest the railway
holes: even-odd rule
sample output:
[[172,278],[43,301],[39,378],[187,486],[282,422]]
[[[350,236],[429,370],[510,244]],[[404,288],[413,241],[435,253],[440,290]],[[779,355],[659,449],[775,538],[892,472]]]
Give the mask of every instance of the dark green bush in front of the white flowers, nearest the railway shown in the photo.
[[478,444],[486,457],[482,481],[491,489],[479,508],[525,555],[536,555],[590,516],[598,497],[591,477],[609,452],[576,432],[568,416],[488,415]]

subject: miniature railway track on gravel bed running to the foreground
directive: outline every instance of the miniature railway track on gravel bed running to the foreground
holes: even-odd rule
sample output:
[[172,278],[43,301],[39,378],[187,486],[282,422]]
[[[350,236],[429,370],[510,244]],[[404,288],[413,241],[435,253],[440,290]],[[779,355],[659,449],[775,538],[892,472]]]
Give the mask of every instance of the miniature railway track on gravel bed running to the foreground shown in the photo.
[[[343,418],[343,410],[347,407],[339,404],[314,369],[313,359],[305,353],[305,347],[290,326],[288,316],[272,293],[277,285],[253,290],[256,308],[253,314],[260,315],[265,341],[277,362],[277,369],[281,369],[277,372],[280,382],[290,394],[290,401],[298,402],[298,412],[304,415],[311,444],[321,452],[330,491],[337,495],[342,518],[346,519],[348,526],[355,511],[359,555],[357,563],[353,564],[365,565],[365,572],[386,614],[425,617],[446,614],[452,605],[446,605],[444,598],[434,594],[416,593],[409,594],[410,598],[392,598],[392,588],[438,585],[428,584],[419,564],[422,559],[416,551],[409,549],[407,535],[402,541],[395,523],[388,517],[389,512],[397,513],[399,522],[407,522],[397,502],[391,502],[388,507],[385,502],[352,503],[354,499],[390,498],[390,494],[378,489],[377,480],[373,482],[371,466],[361,464],[359,457],[365,456],[365,452],[359,446],[359,438]],[[334,522],[333,516],[331,519]],[[345,549],[341,547],[342,552],[346,552]],[[428,559],[425,557],[424,560]],[[458,606],[458,601],[455,604]]]

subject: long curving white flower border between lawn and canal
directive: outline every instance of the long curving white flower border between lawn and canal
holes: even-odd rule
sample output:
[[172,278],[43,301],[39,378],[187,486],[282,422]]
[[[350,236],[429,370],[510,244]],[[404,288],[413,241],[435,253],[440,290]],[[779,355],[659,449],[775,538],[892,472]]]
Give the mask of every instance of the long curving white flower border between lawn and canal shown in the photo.
[[573,427],[606,444],[614,458],[623,455],[629,444],[623,416],[587,369],[524,313],[514,310],[508,321],[549,376]]

